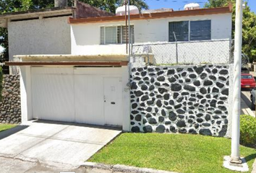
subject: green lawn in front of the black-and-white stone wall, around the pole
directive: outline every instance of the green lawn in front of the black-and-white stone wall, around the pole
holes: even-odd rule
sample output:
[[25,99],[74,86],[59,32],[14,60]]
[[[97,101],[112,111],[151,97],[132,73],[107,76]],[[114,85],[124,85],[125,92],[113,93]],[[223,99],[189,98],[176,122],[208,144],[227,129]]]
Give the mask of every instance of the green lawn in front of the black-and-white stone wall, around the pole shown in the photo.
[[[123,133],[89,161],[184,173],[224,173],[231,172],[222,167],[223,156],[229,156],[230,150],[231,140],[227,138],[166,133]],[[241,146],[240,151],[252,169],[256,150]]]

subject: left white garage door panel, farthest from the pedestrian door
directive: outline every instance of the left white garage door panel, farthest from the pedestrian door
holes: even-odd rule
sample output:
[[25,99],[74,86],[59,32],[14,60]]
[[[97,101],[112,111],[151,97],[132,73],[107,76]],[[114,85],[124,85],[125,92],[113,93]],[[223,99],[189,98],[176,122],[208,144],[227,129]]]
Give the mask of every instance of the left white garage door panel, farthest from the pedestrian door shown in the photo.
[[33,117],[44,120],[74,121],[72,75],[33,75]]

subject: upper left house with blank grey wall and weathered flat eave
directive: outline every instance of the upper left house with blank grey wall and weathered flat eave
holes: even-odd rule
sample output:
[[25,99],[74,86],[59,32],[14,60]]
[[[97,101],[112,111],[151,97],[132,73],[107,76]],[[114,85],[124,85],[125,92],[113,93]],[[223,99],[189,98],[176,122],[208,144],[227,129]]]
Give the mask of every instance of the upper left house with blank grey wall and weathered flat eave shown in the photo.
[[[71,7],[56,7],[0,16],[0,27],[7,27],[9,61],[17,55],[70,54],[71,39],[68,17]],[[17,73],[12,68],[11,74]]]

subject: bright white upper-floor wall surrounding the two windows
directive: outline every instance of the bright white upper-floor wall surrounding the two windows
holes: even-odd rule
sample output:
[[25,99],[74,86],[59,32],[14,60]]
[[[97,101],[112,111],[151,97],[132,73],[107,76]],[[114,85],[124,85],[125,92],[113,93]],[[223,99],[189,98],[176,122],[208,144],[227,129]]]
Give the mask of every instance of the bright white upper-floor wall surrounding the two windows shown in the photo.
[[[168,42],[168,22],[185,20],[211,20],[212,40],[231,39],[231,14],[213,14],[192,17],[132,20],[135,26],[135,44]],[[71,25],[72,54],[126,53],[126,45],[100,45],[101,26],[125,25],[125,22],[101,22]]]

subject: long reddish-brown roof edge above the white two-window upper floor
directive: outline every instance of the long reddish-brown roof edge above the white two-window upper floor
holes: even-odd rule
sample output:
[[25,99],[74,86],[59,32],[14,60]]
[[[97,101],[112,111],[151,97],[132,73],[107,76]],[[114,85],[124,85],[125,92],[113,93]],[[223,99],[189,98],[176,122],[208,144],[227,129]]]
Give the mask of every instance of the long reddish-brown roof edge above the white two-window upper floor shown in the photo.
[[[220,8],[210,8],[210,9],[192,9],[174,12],[155,12],[150,14],[132,14],[130,15],[131,20],[140,19],[159,19],[167,17],[186,17],[186,16],[198,16],[207,14],[226,14],[232,12],[232,5]],[[97,22],[118,22],[124,21],[125,16],[111,16],[111,17],[88,17],[74,19],[69,17],[69,24],[75,25],[80,23],[97,23]]]

